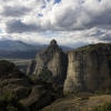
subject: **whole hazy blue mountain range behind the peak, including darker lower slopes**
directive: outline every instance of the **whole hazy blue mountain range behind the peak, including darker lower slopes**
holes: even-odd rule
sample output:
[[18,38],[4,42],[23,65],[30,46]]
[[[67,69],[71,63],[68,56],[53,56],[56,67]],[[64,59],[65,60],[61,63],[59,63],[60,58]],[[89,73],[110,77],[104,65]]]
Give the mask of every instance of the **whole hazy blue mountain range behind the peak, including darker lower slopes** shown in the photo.
[[[47,48],[48,44],[28,44],[20,40],[3,40],[0,41],[0,58],[20,58],[32,59],[36,54]],[[63,51],[69,51],[71,48],[60,46]],[[22,53],[22,54],[21,54]]]

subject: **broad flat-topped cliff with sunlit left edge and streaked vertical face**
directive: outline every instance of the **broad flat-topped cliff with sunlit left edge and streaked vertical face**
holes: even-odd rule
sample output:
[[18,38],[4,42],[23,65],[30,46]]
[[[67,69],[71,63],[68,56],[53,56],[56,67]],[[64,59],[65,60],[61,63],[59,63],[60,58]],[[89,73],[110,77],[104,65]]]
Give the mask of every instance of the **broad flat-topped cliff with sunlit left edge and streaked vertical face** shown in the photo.
[[93,44],[68,53],[64,93],[95,91],[111,75],[111,46]]

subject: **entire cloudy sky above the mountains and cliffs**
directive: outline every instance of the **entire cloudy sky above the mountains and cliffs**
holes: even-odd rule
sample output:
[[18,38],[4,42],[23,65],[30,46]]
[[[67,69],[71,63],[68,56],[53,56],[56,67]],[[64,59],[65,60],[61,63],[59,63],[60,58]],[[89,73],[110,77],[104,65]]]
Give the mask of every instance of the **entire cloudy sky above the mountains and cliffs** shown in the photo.
[[0,0],[0,40],[78,48],[111,42],[111,0]]

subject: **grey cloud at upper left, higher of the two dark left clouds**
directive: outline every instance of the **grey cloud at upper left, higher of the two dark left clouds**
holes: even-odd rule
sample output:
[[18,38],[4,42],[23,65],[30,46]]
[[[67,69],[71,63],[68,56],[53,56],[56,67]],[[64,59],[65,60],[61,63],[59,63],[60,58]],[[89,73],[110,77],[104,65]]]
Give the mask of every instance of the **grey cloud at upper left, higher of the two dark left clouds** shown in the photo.
[[24,16],[27,12],[31,11],[28,8],[24,7],[4,7],[3,12],[1,12],[1,16],[4,17],[21,17]]

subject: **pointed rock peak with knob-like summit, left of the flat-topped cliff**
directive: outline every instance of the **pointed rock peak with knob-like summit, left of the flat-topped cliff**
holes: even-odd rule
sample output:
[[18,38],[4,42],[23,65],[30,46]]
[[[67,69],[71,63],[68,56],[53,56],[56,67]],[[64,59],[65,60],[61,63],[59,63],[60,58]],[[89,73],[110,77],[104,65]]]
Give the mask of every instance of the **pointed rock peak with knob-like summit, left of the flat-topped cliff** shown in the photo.
[[67,75],[67,54],[58,47],[57,41],[52,40],[50,46],[39,52],[36,60],[31,62],[28,74],[39,75],[42,71],[49,70],[52,72],[54,82],[63,83]]

